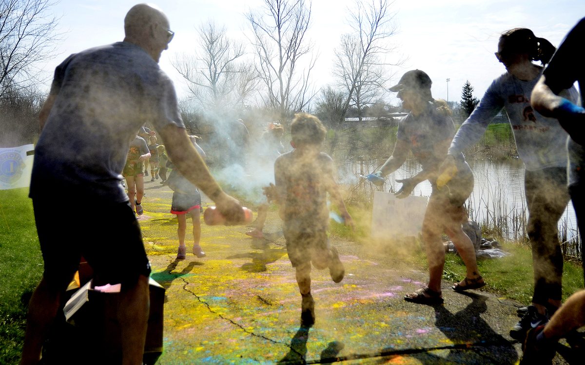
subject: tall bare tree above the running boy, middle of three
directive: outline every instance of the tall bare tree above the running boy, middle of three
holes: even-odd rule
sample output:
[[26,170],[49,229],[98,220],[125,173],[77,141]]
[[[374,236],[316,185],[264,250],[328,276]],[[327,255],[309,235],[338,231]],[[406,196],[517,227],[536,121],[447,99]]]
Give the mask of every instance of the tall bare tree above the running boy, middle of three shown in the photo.
[[311,3],[304,0],[264,0],[264,13],[247,14],[253,31],[257,72],[266,87],[264,102],[281,120],[305,107],[314,94],[309,75],[315,58],[301,61],[312,51],[305,39],[311,22]]

